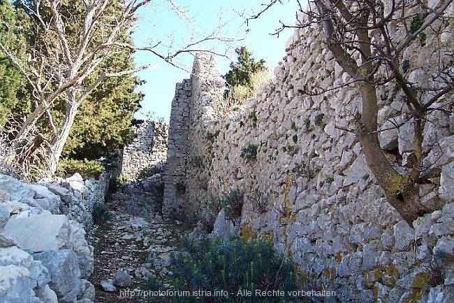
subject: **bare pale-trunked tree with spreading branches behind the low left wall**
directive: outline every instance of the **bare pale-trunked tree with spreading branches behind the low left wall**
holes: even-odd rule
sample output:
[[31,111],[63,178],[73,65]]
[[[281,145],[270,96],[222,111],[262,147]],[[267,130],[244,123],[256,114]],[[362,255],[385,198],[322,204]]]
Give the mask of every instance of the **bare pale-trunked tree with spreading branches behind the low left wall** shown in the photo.
[[[33,90],[34,110],[22,123],[14,139],[17,162],[34,161],[35,150],[46,146],[44,175],[52,176],[57,169],[61,152],[78,113],[87,96],[107,77],[124,76],[130,71],[102,70],[101,62],[121,48],[147,50],[166,62],[184,52],[192,52],[200,43],[217,38],[216,32],[189,43],[174,53],[161,54],[154,46],[136,48],[124,39],[124,33],[136,20],[138,10],[152,0],[80,0],[68,3],[60,0],[19,0],[18,3],[38,22],[38,37],[30,45],[27,58],[16,57],[1,43],[0,49],[27,78]],[[170,1],[173,9],[177,6]],[[72,6],[72,9],[68,9]],[[173,64],[175,65],[175,64]],[[65,113],[61,123],[55,122],[51,108],[64,101]],[[50,134],[36,132],[38,121],[45,119]],[[32,132],[32,130],[35,130]]]

